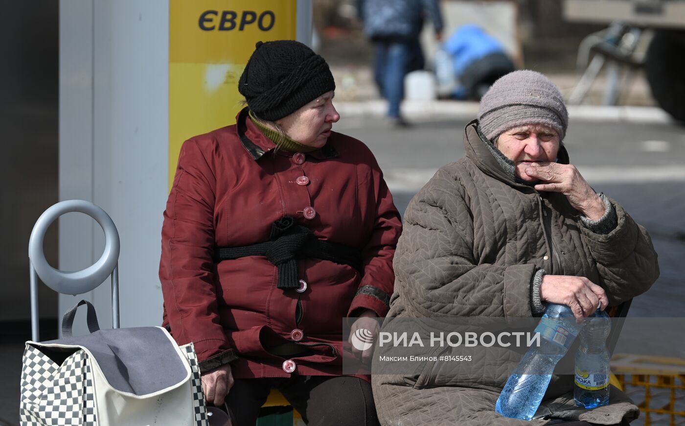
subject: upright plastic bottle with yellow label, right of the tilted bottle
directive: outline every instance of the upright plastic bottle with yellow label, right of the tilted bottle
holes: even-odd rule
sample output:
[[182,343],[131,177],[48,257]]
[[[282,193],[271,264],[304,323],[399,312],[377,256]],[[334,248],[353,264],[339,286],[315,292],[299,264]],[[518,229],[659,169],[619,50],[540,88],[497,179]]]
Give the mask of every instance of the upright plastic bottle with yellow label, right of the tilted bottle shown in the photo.
[[586,318],[580,333],[580,348],[575,353],[575,405],[595,408],[609,403],[609,351],[606,338],[611,331],[611,320],[606,312]]

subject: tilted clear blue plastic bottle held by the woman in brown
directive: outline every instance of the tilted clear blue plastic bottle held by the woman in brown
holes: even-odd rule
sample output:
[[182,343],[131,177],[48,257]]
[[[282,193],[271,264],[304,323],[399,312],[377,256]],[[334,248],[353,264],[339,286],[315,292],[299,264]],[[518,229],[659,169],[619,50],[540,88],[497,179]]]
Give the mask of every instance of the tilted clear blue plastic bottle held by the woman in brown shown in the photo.
[[556,364],[569,351],[580,332],[573,311],[566,305],[549,304],[540,324],[540,346],[531,346],[523,355],[499,394],[495,410],[509,418],[530,420],[545,396]]

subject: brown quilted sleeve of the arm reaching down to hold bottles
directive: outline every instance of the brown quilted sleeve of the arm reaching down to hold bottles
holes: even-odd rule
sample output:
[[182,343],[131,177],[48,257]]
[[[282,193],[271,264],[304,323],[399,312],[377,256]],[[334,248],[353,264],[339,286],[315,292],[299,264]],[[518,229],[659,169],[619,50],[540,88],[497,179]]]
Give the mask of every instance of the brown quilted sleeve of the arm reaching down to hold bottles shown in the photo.
[[536,266],[477,264],[463,190],[440,169],[410,202],[393,266],[412,316],[532,316]]

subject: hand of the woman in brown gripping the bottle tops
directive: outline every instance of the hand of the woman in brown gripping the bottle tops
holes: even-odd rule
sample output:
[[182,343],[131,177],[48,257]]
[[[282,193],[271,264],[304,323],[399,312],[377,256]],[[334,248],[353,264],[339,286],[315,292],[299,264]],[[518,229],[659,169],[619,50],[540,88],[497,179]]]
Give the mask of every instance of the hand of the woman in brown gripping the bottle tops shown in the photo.
[[540,299],[570,307],[576,318],[592,315],[600,304],[602,310],[609,305],[604,289],[584,276],[544,275]]

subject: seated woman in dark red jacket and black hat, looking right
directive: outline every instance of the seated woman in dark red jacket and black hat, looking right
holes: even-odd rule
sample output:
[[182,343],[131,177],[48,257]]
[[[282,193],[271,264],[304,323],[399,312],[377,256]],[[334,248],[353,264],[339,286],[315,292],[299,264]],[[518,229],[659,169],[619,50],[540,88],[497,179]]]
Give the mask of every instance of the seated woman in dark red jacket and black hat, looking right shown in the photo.
[[[364,143],[336,133],[328,65],[257,43],[237,123],[184,143],[164,211],[165,323],[193,342],[206,398],[256,421],[271,388],[310,425],[377,422],[343,376],[345,317],[385,316],[399,213]],[[324,421],[325,416],[325,421]]]

